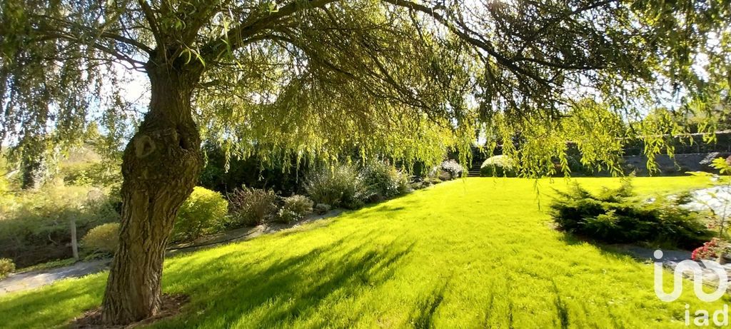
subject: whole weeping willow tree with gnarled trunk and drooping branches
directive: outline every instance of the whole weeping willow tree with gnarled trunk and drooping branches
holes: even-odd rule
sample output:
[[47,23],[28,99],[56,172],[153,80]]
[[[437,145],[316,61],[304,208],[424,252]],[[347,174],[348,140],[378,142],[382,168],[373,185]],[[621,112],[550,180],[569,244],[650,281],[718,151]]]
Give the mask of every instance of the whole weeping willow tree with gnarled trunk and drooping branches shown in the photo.
[[355,148],[434,163],[444,148],[466,151],[480,128],[519,133],[526,143],[508,151],[530,175],[563,159],[567,139],[586,162],[616,159],[625,132],[596,129],[607,122],[579,96],[622,118],[667,95],[694,111],[728,97],[724,0],[10,0],[0,10],[5,143],[35,133],[58,147],[99,113],[118,132],[131,122],[120,72],[148,77],[148,110],[123,156],[110,324],[159,311],[164,247],[202,137],[265,159]]

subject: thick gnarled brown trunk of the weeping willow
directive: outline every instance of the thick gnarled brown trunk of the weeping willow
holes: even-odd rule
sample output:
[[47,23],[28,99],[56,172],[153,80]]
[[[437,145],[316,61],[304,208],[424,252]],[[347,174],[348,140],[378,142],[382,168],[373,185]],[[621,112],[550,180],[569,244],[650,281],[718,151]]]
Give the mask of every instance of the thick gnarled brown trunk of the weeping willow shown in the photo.
[[200,135],[191,115],[198,75],[148,67],[150,110],[124,150],[122,220],[102,319],[125,325],[160,309],[165,246],[183,201],[197,181]]

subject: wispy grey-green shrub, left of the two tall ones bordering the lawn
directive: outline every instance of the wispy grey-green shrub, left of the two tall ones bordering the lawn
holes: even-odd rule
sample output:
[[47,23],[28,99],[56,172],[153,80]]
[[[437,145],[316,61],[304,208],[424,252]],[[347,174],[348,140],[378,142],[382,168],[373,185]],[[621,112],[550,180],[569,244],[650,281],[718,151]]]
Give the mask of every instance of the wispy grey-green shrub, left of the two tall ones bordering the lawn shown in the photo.
[[366,186],[352,165],[312,170],[305,182],[305,189],[316,203],[333,207],[356,209],[362,207],[365,201]]

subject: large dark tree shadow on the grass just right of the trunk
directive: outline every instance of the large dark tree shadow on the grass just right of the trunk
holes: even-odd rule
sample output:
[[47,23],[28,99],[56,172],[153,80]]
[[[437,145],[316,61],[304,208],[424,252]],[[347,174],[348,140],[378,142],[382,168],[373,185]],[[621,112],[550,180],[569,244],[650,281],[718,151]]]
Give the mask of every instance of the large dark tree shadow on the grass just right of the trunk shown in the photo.
[[230,327],[242,319],[250,321],[247,327],[281,327],[298,319],[326,326],[328,319],[313,315],[322,311],[328,298],[352,298],[383,284],[414,246],[413,241],[401,238],[386,245],[346,243],[372,238],[371,234],[341,238],[304,254],[280,257],[265,267],[246,260],[235,268],[227,267],[236,259],[224,254],[197,262],[189,271],[168,273],[173,284],[200,279],[190,283],[192,303],[182,316],[158,326]]

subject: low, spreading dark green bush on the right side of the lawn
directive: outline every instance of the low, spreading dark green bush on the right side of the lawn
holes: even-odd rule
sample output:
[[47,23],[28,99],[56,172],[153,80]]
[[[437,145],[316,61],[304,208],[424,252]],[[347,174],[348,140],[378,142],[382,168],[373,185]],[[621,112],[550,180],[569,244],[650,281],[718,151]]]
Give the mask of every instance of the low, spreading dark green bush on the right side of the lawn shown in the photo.
[[625,182],[618,189],[593,194],[576,184],[558,192],[550,205],[558,228],[602,243],[653,243],[692,248],[711,232],[698,213],[681,206],[687,198],[642,200]]

